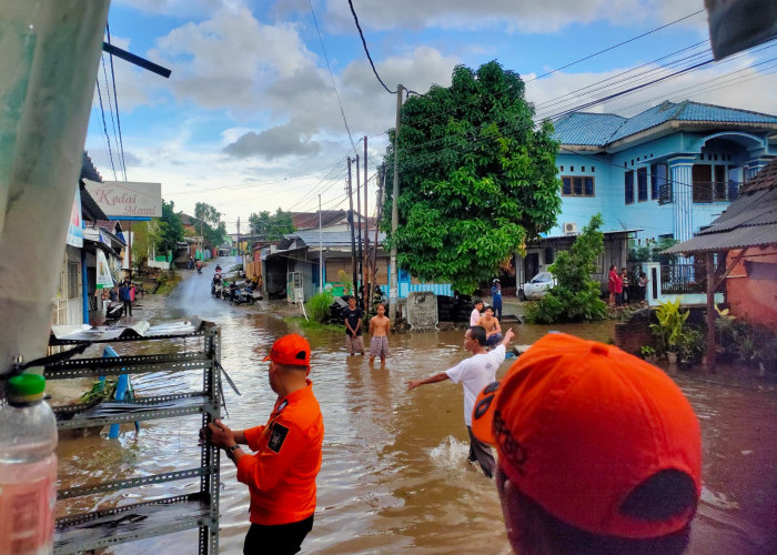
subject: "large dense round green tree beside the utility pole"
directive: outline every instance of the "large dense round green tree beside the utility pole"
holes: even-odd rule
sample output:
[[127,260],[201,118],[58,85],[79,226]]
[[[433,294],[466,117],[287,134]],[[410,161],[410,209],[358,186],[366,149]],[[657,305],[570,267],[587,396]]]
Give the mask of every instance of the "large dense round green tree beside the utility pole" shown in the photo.
[[[551,229],[561,209],[553,127],[535,127],[524,82],[497,62],[458,65],[402,108],[398,264],[422,280],[470,293],[526,241]],[[389,132],[393,144],[394,130]],[[386,182],[393,180],[389,148]],[[391,229],[391,186],[383,213]]]

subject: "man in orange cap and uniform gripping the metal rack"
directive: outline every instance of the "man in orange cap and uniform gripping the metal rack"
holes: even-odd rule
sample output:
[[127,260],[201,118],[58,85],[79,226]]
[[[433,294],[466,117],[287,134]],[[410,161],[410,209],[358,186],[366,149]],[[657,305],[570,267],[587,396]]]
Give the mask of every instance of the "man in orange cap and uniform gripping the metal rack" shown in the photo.
[[[266,425],[238,432],[215,421],[200,432],[226,452],[238,466],[238,481],[249,486],[245,554],[297,553],[313,527],[324,423],[307,379],[310,357],[307,341],[297,334],[275,341],[264,359],[270,360],[270,386],[278,394]],[[239,444],[255,453],[244,453]]]

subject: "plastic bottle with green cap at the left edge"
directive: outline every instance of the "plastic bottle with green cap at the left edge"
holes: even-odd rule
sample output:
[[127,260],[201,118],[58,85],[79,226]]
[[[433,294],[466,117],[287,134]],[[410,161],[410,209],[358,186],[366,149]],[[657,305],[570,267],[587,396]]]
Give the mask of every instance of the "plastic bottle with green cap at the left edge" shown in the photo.
[[0,406],[0,555],[53,552],[57,418],[44,389],[41,375],[13,376]]

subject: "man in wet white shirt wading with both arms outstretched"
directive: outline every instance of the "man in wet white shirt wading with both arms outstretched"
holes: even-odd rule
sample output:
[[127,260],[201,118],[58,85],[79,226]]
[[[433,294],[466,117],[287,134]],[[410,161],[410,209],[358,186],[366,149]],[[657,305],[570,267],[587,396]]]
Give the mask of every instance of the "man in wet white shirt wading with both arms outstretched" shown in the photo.
[[416,389],[418,385],[427,383],[444,382],[451,380],[453,383],[461,383],[464,389],[464,424],[470,433],[470,456],[467,461],[477,461],[487,477],[494,476],[496,463],[491,454],[491,446],[480,441],[472,434],[472,410],[475,406],[477,394],[492,383],[496,377],[496,370],[505,360],[507,344],[513,339],[513,329],[505,333],[502,343],[492,351],[486,349],[485,330],[478,325],[470,327],[464,334],[464,349],[472,353],[470,359],[465,359],[454,367],[445,372],[438,372],[425,380],[411,380],[407,383],[407,391]]

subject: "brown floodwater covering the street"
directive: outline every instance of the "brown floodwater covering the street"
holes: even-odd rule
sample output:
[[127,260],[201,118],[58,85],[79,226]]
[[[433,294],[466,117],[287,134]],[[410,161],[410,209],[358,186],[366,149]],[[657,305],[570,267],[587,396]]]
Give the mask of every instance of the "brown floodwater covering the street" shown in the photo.
[[[228,261],[222,260],[226,268]],[[213,268],[212,264],[210,268]],[[222,364],[236,383],[224,384],[233,428],[264,424],[274,394],[262,359],[276,337],[299,331],[263,306],[231,306],[209,294],[212,271],[192,275],[152,323],[200,315],[222,327]],[[613,322],[553,326],[606,341]],[[547,326],[517,325],[515,343],[532,343]],[[476,465],[466,463],[467,434],[460,385],[451,382],[406,392],[404,382],[445,370],[464,359],[463,331],[405,333],[390,339],[386,366],[345,354],[339,332],[303,332],[312,347],[314,391],[326,434],[313,531],[303,553],[508,554],[497,494]],[[196,349],[180,345],[179,349]],[[509,367],[506,361],[497,375]],[[689,553],[777,553],[777,393],[757,383],[722,384],[720,376],[673,373],[699,418],[704,442],[704,492]],[[133,380],[138,395],[194,389],[200,375],[148,374]],[[63,486],[184,470],[199,464],[199,416],[141,423],[119,440],[62,440]],[[242,553],[248,529],[248,487],[221,458],[221,553]],[[107,508],[158,495],[196,491],[195,481],[173,482],[60,503],[59,514]],[[585,509],[585,507],[581,507]],[[119,545],[105,553],[195,553],[196,532]]]

